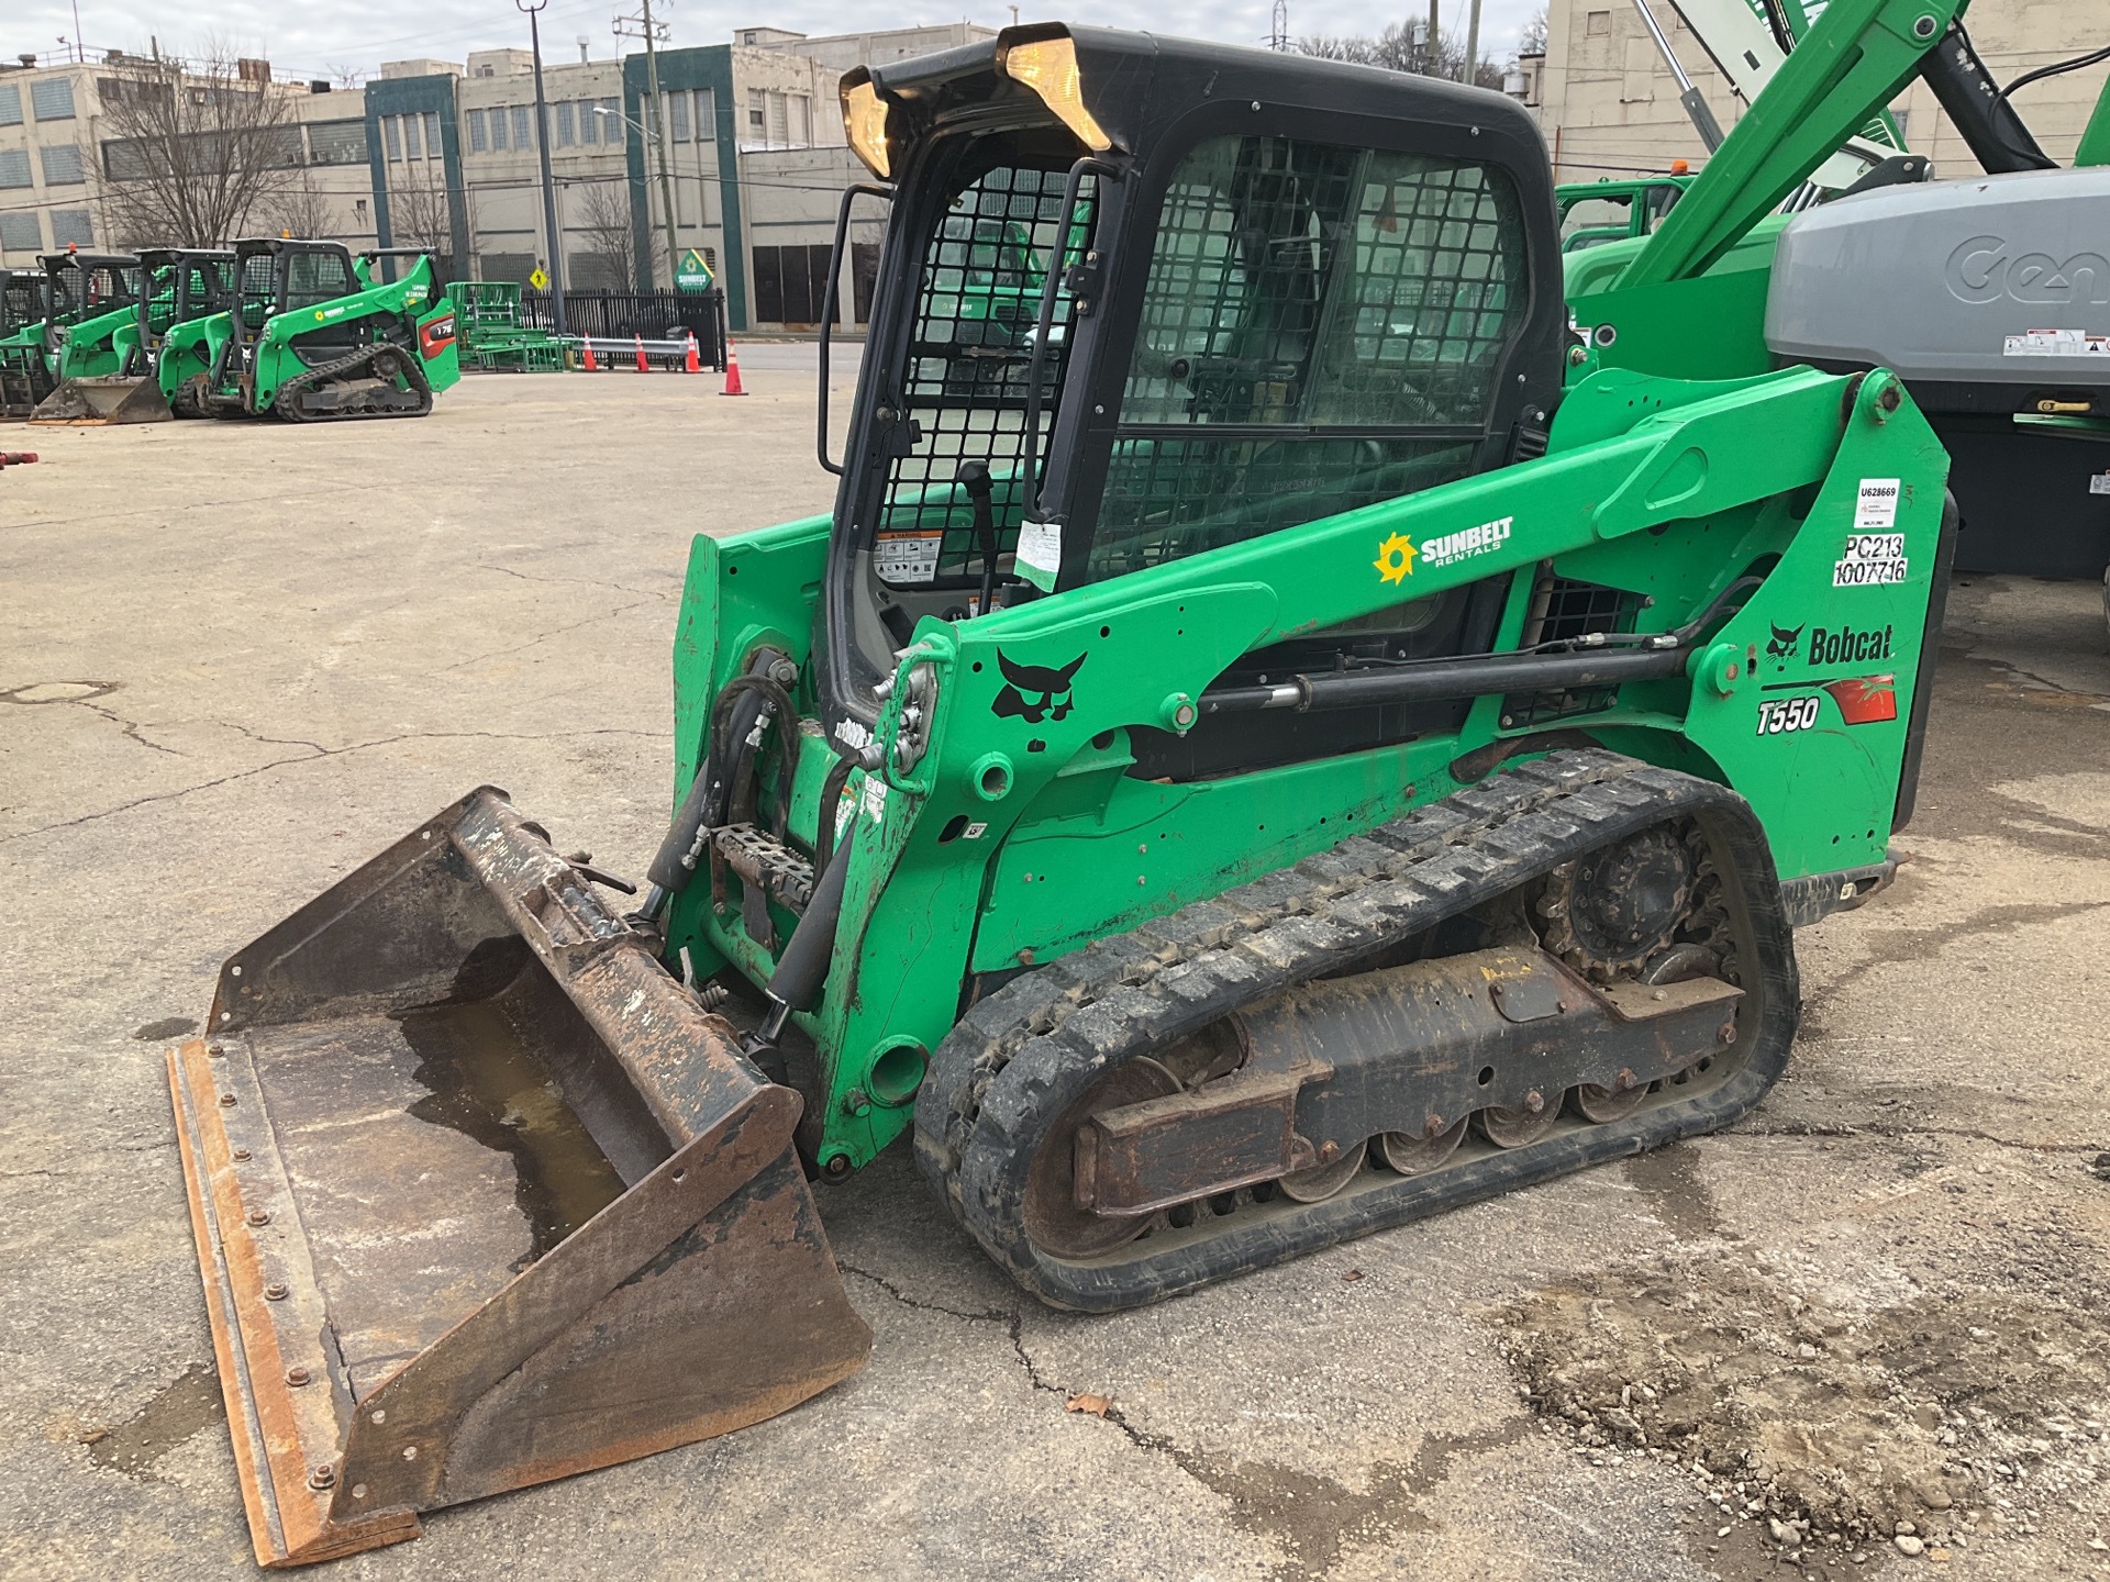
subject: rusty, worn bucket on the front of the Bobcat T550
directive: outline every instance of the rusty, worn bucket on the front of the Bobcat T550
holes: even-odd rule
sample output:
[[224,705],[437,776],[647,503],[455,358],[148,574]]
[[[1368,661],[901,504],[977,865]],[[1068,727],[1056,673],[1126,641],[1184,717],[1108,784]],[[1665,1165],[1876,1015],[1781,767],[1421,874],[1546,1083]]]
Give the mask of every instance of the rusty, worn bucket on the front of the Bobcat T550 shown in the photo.
[[257,1561],[863,1367],[800,1097],[481,787],[228,960],[169,1057]]

